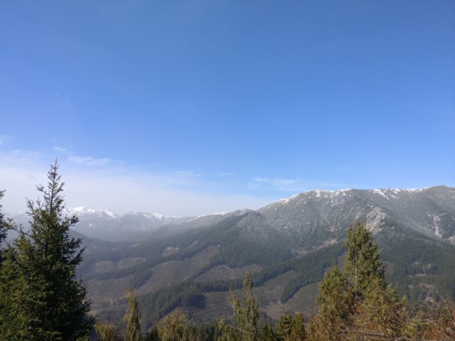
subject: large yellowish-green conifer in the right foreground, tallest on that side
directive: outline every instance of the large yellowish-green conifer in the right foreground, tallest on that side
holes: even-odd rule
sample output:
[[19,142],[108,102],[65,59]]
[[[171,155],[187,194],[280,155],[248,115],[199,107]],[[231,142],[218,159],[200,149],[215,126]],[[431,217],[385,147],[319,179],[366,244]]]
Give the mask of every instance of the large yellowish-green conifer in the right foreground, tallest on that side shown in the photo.
[[365,224],[348,228],[346,263],[333,266],[319,286],[319,313],[308,340],[407,340],[416,330],[404,300],[387,286],[378,247]]

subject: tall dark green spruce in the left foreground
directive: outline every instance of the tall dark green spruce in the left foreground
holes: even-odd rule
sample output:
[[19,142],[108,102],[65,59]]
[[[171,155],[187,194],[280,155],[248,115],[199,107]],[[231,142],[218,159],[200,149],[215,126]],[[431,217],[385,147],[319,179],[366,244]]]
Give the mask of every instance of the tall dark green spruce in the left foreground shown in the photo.
[[28,200],[30,232],[6,249],[1,268],[1,340],[77,340],[93,325],[87,289],[76,279],[82,261],[81,239],[70,237],[77,217],[64,214],[64,183],[55,161],[43,199]]

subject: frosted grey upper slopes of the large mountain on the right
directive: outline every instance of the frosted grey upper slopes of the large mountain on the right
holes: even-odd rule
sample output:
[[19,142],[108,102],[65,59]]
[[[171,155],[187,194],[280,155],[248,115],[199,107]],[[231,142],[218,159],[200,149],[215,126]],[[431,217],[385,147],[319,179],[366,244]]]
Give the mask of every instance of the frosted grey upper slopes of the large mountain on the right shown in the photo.
[[244,215],[237,222],[245,238],[257,242],[283,240],[306,251],[345,237],[355,220],[366,222],[373,234],[397,227],[455,244],[455,188],[438,186],[416,190],[314,190],[272,202],[257,211],[240,210],[180,224],[181,230],[203,228],[226,217]]

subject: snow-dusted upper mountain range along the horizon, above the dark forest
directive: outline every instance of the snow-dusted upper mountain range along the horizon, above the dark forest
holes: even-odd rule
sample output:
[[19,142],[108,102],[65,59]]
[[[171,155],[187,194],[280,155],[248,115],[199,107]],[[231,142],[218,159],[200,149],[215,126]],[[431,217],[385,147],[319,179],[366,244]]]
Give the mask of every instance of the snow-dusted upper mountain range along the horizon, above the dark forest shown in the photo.
[[[399,226],[455,243],[454,211],[455,188],[445,186],[416,190],[314,190],[272,202],[257,211],[238,210],[202,217],[167,217],[144,212],[117,215],[111,210],[86,207],[65,209],[67,215],[79,218],[75,231],[111,242],[168,237],[245,215],[237,223],[245,236],[255,236],[265,243],[285,239],[304,249],[342,239],[346,226],[354,220],[365,221],[373,233],[384,228],[392,232]],[[14,220],[27,224],[28,217],[22,213]]]

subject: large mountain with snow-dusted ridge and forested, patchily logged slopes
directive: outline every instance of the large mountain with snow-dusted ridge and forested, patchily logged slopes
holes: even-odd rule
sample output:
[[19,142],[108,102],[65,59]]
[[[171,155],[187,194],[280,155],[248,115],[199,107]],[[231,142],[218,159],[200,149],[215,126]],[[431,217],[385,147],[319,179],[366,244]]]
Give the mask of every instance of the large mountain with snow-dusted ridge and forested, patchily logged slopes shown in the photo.
[[86,256],[79,271],[95,313],[122,315],[124,291],[134,288],[145,315],[181,306],[194,320],[210,320],[230,312],[225,295],[247,269],[267,315],[311,310],[324,271],[343,262],[342,241],[355,220],[373,232],[390,283],[410,301],[455,299],[455,188],[316,190],[259,210],[162,218],[141,227],[153,217],[80,215],[94,231],[151,231],[134,247]]

